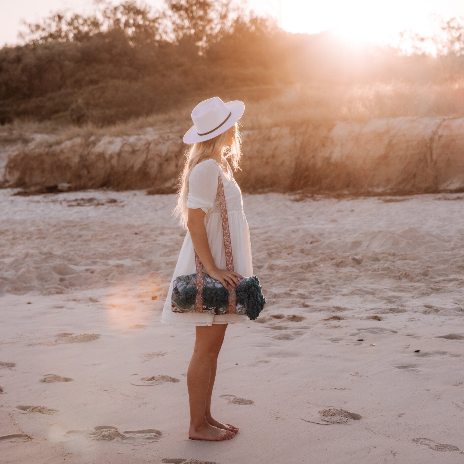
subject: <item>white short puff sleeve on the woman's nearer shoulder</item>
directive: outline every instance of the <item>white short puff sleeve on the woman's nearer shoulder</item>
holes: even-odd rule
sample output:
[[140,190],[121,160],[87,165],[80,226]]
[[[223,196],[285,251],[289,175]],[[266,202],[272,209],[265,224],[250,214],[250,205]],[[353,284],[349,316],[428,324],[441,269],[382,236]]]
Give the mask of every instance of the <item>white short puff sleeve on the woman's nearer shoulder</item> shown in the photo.
[[196,164],[188,178],[187,208],[201,208],[211,213],[218,192],[219,166],[208,159]]

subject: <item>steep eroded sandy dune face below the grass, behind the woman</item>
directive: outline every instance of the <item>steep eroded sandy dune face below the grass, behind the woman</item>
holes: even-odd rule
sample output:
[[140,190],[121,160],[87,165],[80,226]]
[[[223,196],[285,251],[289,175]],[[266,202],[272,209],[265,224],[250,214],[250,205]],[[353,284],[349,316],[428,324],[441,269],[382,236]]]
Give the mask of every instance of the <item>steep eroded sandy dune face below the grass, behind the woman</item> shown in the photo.
[[[464,188],[464,119],[398,117],[245,130],[244,192],[432,193]],[[4,185],[175,192],[180,132],[41,140],[9,153]]]

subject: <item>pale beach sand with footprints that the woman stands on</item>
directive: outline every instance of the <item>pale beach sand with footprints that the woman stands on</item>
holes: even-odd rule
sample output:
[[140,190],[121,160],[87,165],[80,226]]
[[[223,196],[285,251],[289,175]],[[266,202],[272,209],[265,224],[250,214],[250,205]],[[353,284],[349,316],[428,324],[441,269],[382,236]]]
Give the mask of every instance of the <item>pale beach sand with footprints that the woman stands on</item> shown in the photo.
[[201,442],[187,438],[194,329],[160,322],[184,235],[175,195],[12,192],[2,463],[463,462],[462,194],[245,194],[267,305],[219,355],[213,414],[240,431]]

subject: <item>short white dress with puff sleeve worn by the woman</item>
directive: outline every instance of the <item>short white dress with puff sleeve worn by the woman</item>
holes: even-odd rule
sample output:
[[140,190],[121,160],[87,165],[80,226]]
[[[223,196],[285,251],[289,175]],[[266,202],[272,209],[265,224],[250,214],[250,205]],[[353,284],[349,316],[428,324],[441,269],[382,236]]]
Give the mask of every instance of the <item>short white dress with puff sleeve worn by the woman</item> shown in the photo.
[[[214,263],[219,269],[226,269],[226,252],[222,237],[218,190],[218,173],[220,173],[226,197],[234,271],[244,277],[251,277],[253,275],[253,265],[251,262],[250,230],[243,211],[242,192],[233,178],[229,163],[227,163],[227,168],[228,177],[216,160],[206,159],[196,164],[192,168],[188,180],[189,191],[186,206],[192,209],[201,208],[206,213],[204,223]],[[248,316],[243,314],[175,313],[172,311],[171,292],[174,279],[178,276],[194,273],[196,273],[195,253],[192,238],[187,229],[169,285],[161,322],[205,326],[213,323],[245,322],[248,319]]]

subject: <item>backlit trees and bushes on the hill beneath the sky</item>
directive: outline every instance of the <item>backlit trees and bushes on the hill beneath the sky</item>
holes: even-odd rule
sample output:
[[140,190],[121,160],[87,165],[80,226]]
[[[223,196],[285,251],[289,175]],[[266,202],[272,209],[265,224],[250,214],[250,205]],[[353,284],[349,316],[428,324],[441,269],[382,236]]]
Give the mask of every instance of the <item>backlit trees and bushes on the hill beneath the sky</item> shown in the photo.
[[88,16],[26,24],[23,44],[0,50],[0,123],[150,121],[211,95],[281,105],[290,122],[464,115],[464,25],[403,39],[409,55],[353,49],[327,32],[285,32],[232,0],[166,0],[160,11],[98,1]]

